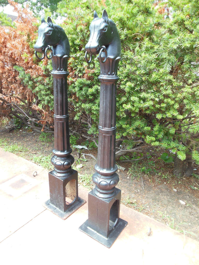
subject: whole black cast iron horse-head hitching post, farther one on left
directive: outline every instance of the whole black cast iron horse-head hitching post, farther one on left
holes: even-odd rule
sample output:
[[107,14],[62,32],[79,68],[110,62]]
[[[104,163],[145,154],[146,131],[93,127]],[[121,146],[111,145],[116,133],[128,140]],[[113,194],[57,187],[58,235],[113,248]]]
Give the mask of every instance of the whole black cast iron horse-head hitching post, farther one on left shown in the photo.
[[[68,95],[67,95],[67,62],[70,45],[64,30],[53,24],[50,17],[47,23],[44,19],[38,29],[38,39],[34,45],[35,55],[38,59],[52,60],[53,87],[54,87],[54,156],[51,162],[54,170],[49,172],[50,200],[45,207],[66,219],[85,201],[78,197],[77,171],[71,165],[74,162],[71,156],[68,123]],[[52,46],[52,48],[51,48]],[[50,50],[50,57],[47,51]],[[37,56],[37,52],[44,55]]]

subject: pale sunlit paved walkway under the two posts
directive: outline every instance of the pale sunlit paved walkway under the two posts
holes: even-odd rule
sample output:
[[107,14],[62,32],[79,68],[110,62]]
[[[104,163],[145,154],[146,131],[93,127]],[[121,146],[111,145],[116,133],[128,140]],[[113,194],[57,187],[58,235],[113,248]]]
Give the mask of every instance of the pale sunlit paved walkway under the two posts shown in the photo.
[[[2,265],[199,265],[199,242],[124,205],[120,217],[128,225],[106,248],[78,229],[88,218],[87,203],[60,219],[42,206],[49,199],[47,170],[1,148],[0,173]],[[79,186],[79,196],[87,201],[88,189]]]

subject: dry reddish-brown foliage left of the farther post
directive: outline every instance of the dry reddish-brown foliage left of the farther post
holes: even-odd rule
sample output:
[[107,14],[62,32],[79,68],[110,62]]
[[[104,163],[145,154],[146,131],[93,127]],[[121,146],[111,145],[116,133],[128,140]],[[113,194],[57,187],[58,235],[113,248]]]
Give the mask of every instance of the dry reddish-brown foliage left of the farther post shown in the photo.
[[[29,43],[37,39],[37,19],[32,13],[22,9],[15,2],[8,1],[18,13],[15,27],[0,26],[0,115],[13,115],[28,124],[53,124],[53,113],[48,106],[38,107],[37,95],[23,85],[19,72],[13,67],[23,67],[31,77],[45,78],[42,68],[34,55],[34,49]],[[47,60],[44,60],[47,64]],[[46,126],[43,126],[43,129]],[[49,125],[48,125],[49,127]]]

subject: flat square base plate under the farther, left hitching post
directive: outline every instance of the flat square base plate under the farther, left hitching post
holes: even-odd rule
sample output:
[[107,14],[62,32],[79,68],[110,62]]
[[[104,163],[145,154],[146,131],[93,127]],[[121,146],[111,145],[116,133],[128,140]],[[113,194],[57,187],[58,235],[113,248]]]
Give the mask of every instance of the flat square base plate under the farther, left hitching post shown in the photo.
[[50,199],[47,200],[43,204],[43,206],[46,209],[48,209],[49,211],[51,211],[52,213],[54,213],[57,216],[59,216],[61,219],[66,220],[66,218],[68,218],[72,213],[74,213],[77,209],[79,209],[85,203],[86,203],[85,200],[83,200],[80,197],[78,197],[78,201],[77,202],[73,202],[73,204],[71,204],[71,206],[69,206],[68,209],[65,212],[60,210],[59,208],[57,208],[54,204],[51,204]]

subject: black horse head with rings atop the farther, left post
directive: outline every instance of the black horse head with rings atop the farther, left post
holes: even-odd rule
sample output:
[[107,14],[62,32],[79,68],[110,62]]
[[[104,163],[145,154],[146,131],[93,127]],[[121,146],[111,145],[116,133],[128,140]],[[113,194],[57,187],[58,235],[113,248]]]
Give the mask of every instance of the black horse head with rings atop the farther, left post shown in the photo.
[[[53,24],[50,17],[47,18],[47,22],[42,18],[34,49],[35,55],[39,60],[44,59],[45,56],[47,59],[51,59],[53,56],[59,58],[67,56],[68,58],[70,53],[70,45],[66,33],[60,26]],[[48,50],[51,50],[50,57],[47,55]],[[41,52],[44,55],[39,58],[37,52]]]

